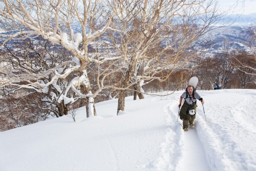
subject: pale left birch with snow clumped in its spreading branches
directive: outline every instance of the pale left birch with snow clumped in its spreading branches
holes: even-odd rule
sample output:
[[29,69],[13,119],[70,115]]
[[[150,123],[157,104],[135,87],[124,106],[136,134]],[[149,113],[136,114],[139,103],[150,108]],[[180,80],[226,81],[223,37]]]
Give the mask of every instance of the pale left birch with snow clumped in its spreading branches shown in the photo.
[[[26,84],[18,84],[11,79],[12,76],[9,73],[2,71],[1,86],[46,88],[54,84],[57,79],[65,79],[71,73],[78,72],[67,88],[87,100],[87,116],[96,115],[95,94],[91,91],[87,69],[90,63],[102,61],[92,58],[88,54],[88,45],[103,35],[111,24],[113,14],[106,6],[105,2],[97,0],[2,1],[0,9],[3,19],[2,28],[9,32],[1,35],[5,38],[1,44],[5,44],[11,39],[32,39],[42,36],[42,38],[70,51],[74,59],[68,63],[76,64],[62,73],[59,70],[63,64],[38,72],[38,74],[22,75],[21,79],[23,80],[26,80],[27,76],[34,78],[32,82]],[[78,26],[79,30],[74,30],[75,26]],[[105,60],[111,60],[111,58]],[[50,74],[54,74],[54,76],[47,83],[42,82],[42,79],[47,78]]]

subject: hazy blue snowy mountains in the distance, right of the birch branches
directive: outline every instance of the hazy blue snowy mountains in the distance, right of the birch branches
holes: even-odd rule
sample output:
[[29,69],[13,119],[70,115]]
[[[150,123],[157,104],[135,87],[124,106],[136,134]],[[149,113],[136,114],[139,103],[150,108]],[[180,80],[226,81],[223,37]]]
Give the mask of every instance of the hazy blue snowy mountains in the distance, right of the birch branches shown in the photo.
[[[205,51],[208,55],[214,55],[224,50],[245,50],[251,51],[251,35],[252,28],[255,30],[256,26],[256,13],[249,15],[226,15],[225,18],[229,18],[229,26],[216,27],[212,31],[203,35],[196,46],[199,51]],[[74,28],[75,32],[79,31],[79,28]],[[0,28],[0,33],[6,34],[5,30]],[[201,41],[210,44],[209,47],[200,48]],[[254,41],[255,42],[255,41]],[[255,44],[254,44],[255,46]]]

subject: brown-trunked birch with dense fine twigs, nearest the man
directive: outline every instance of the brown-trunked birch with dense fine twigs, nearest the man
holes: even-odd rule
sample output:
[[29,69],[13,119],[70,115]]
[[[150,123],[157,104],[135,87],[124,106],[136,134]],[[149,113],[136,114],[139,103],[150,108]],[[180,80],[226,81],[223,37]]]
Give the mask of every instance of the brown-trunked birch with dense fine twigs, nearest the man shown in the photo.
[[[176,68],[195,58],[193,43],[220,19],[214,1],[113,1],[119,19],[120,54],[128,64],[119,92],[117,113],[124,111],[131,86],[168,79]],[[133,3],[134,2],[134,3]],[[115,42],[115,41],[113,41]],[[190,50],[190,52],[188,52]],[[162,76],[156,76],[160,73]]]

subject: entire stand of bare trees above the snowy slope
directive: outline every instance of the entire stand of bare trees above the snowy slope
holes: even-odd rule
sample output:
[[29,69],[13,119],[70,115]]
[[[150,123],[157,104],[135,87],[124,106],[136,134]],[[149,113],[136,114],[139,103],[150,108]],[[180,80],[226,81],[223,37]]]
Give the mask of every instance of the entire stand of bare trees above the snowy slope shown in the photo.
[[[0,2],[0,130],[95,102],[185,88],[255,88],[255,54],[204,56],[194,43],[223,14],[215,1]],[[222,27],[222,26],[219,26]],[[252,31],[252,44],[255,31]],[[252,48],[254,51],[254,49]]]

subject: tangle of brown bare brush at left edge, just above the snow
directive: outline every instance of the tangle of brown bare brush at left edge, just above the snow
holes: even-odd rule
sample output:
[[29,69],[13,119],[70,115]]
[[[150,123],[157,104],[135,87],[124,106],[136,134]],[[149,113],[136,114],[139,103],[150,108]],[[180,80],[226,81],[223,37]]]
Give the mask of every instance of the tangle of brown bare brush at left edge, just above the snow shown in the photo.
[[[18,92],[18,91],[17,91]],[[38,93],[21,92],[22,97],[17,93],[12,96],[7,96],[1,99],[1,113],[0,118],[3,119],[1,124],[6,126],[2,129],[11,129],[15,127],[22,127],[23,125],[28,125],[36,123],[47,119],[50,115],[47,110],[46,104],[42,103],[42,97]],[[9,127],[11,125],[11,127]]]

